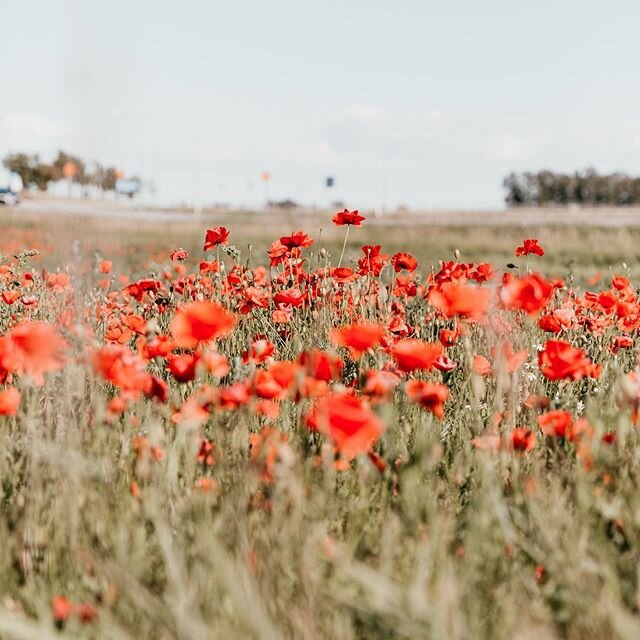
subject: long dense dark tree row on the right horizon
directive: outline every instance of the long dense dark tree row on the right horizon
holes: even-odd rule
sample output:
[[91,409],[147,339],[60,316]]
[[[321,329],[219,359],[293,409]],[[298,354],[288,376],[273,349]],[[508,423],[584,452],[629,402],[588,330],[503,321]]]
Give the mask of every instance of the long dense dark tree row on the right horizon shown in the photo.
[[512,207],[640,204],[640,177],[624,173],[599,174],[595,169],[573,174],[549,170],[511,173],[503,185],[505,202]]

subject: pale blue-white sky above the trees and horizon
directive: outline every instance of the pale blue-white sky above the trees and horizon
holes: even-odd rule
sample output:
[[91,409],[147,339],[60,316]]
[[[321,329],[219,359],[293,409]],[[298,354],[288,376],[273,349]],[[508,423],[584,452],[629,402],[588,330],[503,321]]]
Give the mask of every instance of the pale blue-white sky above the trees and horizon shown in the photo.
[[0,9],[0,156],[63,148],[158,202],[490,208],[511,170],[640,174],[638,0]]

